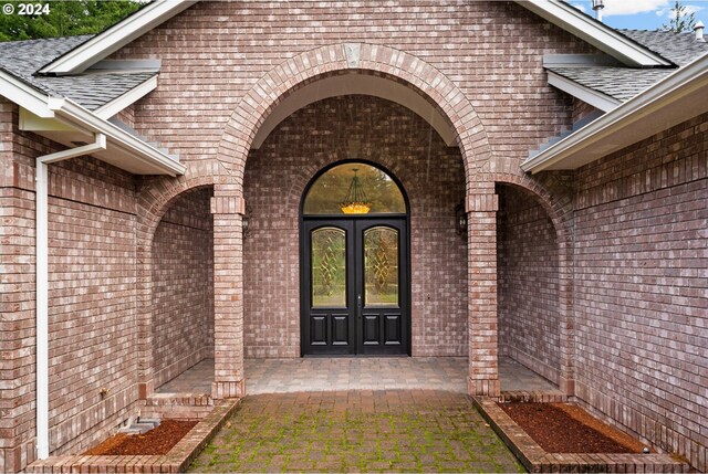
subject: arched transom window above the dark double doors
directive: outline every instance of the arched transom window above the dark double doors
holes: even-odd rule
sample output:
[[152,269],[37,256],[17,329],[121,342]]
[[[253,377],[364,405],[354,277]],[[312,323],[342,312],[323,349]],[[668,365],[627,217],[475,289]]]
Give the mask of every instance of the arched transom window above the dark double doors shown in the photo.
[[[354,179],[356,178],[356,186]],[[344,214],[347,201],[362,201],[357,213],[405,213],[406,202],[396,182],[381,169],[363,162],[335,166],[310,187],[303,213]]]

